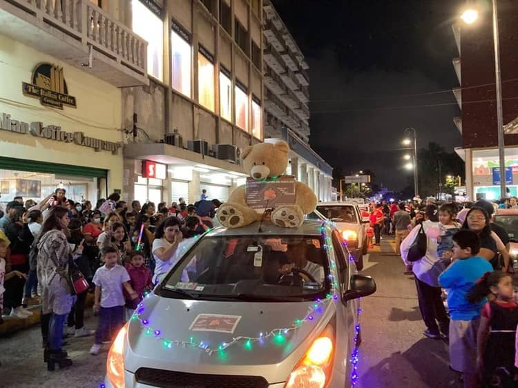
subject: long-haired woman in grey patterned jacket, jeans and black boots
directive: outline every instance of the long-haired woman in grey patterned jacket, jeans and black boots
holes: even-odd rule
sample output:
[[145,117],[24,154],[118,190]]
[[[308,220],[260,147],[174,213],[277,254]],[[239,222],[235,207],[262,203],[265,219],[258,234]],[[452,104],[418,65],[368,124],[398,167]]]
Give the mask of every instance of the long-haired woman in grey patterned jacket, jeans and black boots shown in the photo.
[[[55,365],[60,368],[72,365],[72,360],[61,348],[63,347],[63,326],[65,318],[74,303],[70,279],[68,278],[68,260],[72,254],[67,237],[68,210],[55,206],[49,212],[37,241],[37,273],[41,284],[41,330],[44,336],[44,360],[47,369],[53,371]],[[77,253],[82,253],[81,244]]]

